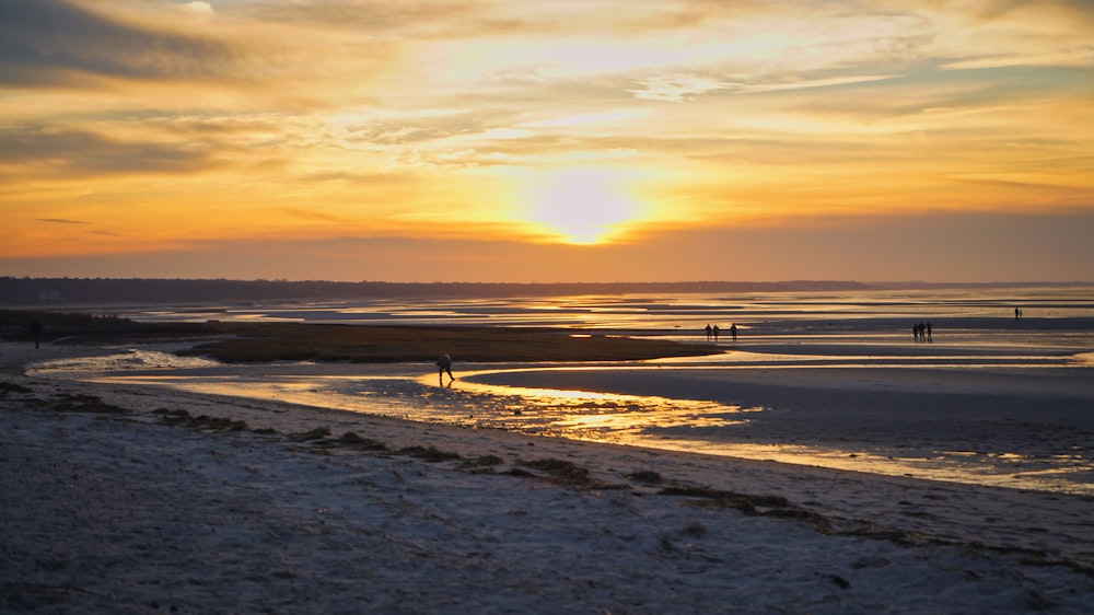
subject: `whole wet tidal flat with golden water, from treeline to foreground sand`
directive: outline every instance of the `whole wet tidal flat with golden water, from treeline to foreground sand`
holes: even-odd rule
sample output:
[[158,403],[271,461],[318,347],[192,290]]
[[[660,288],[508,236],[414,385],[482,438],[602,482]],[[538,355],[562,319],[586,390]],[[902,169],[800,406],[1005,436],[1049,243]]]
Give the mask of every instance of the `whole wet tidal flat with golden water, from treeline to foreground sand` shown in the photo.
[[[706,341],[724,353],[615,365],[220,365],[140,349],[42,374],[629,445],[1094,495],[1089,289],[768,293],[188,308],[150,320],[550,325]],[[990,297],[988,297],[990,295]],[[1025,317],[1015,321],[1015,305]],[[732,320],[731,320],[732,318]],[[930,318],[934,341],[910,325]],[[446,380],[446,379],[445,379]]]

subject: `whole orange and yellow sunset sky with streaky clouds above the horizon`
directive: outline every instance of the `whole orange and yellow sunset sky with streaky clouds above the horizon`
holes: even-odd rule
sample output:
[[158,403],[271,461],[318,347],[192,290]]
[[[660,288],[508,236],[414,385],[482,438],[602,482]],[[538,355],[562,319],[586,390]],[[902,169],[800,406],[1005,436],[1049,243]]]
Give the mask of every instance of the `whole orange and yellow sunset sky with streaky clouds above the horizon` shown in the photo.
[[0,0],[0,276],[1094,280],[1094,0]]

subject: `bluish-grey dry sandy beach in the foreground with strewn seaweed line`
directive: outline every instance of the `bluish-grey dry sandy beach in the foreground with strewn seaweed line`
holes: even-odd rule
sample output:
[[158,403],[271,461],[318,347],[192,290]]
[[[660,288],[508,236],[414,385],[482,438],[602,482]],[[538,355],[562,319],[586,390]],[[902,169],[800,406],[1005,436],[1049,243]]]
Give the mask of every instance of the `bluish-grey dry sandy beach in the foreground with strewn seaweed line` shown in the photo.
[[3,612],[1086,613],[1094,596],[1091,498],[23,374],[77,351],[0,345]]

